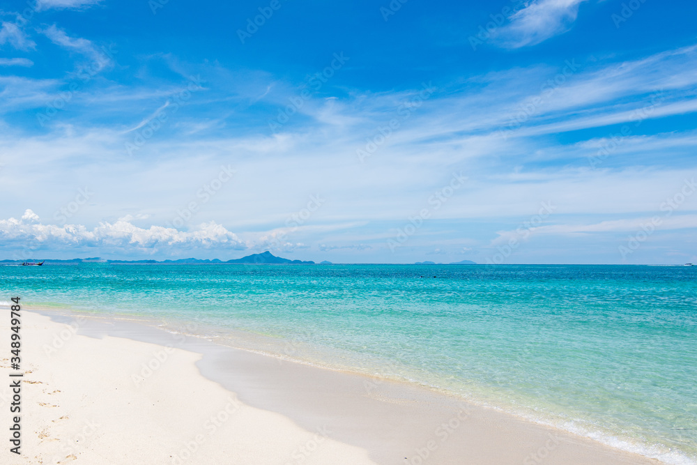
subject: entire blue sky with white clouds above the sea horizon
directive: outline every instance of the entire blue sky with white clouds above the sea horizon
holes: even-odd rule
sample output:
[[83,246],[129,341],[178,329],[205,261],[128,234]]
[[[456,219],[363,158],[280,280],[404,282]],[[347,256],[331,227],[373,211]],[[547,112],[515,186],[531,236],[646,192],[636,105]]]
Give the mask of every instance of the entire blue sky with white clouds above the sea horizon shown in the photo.
[[0,259],[697,262],[694,1],[0,8]]

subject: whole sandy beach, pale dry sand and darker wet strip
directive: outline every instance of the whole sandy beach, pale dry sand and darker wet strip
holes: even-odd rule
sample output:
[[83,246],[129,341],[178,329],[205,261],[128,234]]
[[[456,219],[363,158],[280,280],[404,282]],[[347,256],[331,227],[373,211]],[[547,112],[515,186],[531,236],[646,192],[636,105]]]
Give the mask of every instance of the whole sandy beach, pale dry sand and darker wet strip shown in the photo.
[[0,464],[658,463],[418,386],[132,321],[22,313],[22,455],[3,382]]

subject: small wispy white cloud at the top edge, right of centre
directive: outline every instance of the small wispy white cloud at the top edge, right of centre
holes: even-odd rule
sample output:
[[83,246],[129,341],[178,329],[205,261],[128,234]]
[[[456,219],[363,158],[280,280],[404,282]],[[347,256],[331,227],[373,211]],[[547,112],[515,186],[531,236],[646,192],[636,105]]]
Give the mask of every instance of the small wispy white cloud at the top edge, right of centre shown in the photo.
[[579,4],[585,0],[539,0],[510,17],[510,24],[498,31],[505,47],[537,45],[564,33],[576,20]]

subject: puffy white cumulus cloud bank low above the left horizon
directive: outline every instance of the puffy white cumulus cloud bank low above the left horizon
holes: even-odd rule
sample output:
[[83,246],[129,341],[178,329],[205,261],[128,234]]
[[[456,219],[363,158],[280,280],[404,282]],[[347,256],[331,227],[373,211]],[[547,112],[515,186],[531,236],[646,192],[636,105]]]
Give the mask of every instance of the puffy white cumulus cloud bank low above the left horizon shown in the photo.
[[93,229],[82,224],[43,224],[38,215],[26,210],[20,220],[0,220],[0,241],[17,245],[47,245],[48,247],[120,247],[134,251],[160,252],[174,249],[220,248],[245,249],[247,244],[236,234],[214,221],[200,224],[192,231],[151,226],[137,227],[122,218],[116,222],[100,222]]

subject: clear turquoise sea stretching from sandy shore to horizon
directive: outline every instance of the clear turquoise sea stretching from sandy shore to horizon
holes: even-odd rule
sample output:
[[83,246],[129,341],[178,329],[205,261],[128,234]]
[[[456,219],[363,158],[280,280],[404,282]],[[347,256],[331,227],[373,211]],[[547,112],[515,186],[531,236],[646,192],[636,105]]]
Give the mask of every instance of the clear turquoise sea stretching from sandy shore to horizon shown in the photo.
[[697,463],[697,267],[0,266],[0,303],[137,316]]

